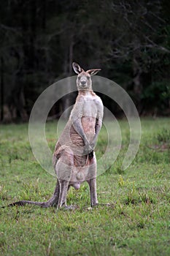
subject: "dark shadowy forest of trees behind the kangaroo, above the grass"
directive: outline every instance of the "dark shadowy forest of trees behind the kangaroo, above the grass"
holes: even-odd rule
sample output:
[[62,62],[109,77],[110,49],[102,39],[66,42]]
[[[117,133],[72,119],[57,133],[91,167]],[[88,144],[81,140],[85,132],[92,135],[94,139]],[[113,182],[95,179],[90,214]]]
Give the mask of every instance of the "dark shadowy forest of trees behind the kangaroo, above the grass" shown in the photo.
[[1,121],[28,120],[47,86],[74,75],[72,61],[101,67],[100,75],[128,91],[140,114],[169,115],[169,17],[168,0],[1,1]]

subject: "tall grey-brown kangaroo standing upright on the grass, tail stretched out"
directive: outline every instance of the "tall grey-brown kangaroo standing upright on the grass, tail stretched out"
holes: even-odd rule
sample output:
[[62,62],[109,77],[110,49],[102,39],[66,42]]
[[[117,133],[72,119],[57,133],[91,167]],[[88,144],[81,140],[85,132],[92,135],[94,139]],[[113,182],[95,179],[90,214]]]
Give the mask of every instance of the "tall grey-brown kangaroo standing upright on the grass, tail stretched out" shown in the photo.
[[102,125],[104,107],[101,98],[93,92],[91,75],[96,75],[101,69],[85,71],[75,62],[72,67],[77,74],[78,95],[69,121],[53,153],[53,167],[57,176],[53,196],[47,202],[21,200],[8,206],[34,204],[41,207],[55,206],[72,209],[74,206],[66,205],[69,187],[80,189],[80,184],[84,181],[87,181],[90,187],[91,207],[98,204],[94,148]]

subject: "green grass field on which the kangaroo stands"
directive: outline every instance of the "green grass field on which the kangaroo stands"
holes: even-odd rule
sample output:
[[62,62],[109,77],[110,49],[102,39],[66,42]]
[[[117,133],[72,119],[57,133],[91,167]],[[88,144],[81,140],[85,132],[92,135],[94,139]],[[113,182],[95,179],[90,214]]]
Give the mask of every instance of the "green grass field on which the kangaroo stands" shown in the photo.
[[[74,211],[24,206],[0,208],[0,255],[170,255],[170,118],[142,119],[142,140],[134,162],[120,166],[128,147],[128,125],[112,167],[97,178],[101,204],[89,210],[88,184],[70,189]],[[47,124],[55,146],[55,124]],[[107,141],[101,130],[96,155]],[[110,154],[112,158],[112,152]],[[108,161],[106,159],[106,163]],[[47,200],[55,178],[36,162],[28,124],[0,126],[0,206],[14,200]]]

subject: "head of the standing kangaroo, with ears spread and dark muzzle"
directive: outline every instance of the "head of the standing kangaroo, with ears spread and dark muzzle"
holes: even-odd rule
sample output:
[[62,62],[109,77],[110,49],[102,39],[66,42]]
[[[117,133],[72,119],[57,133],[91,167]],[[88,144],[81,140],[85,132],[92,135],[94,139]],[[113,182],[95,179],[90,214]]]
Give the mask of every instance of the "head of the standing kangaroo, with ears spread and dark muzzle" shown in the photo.
[[90,76],[96,75],[101,69],[89,69],[85,71],[80,67],[79,64],[73,62],[72,67],[77,75],[77,89],[80,90],[91,90],[92,81]]

